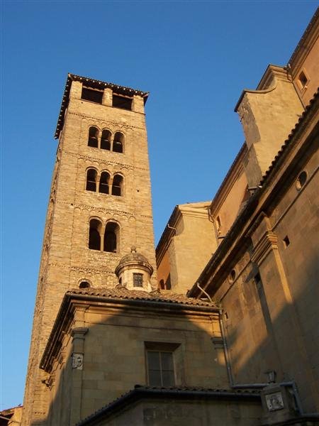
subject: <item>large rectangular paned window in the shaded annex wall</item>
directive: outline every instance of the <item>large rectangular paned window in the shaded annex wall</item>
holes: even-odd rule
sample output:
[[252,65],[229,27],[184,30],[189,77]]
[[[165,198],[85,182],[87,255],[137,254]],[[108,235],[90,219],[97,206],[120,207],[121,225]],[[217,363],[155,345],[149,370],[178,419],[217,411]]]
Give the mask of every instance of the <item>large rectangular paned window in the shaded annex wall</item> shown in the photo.
[[150,386],[174,386],[174,362],[172,352],[147,350],[147,373]]

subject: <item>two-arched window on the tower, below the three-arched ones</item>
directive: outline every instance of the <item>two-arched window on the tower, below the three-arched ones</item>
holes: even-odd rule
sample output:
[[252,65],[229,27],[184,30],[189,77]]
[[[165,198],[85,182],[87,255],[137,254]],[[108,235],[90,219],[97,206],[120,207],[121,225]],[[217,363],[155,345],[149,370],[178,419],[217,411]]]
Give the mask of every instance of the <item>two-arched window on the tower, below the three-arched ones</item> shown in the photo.
[[120,226],[109,221],[103,226],[100,219],[90,219],[89,249],[118,253]]

